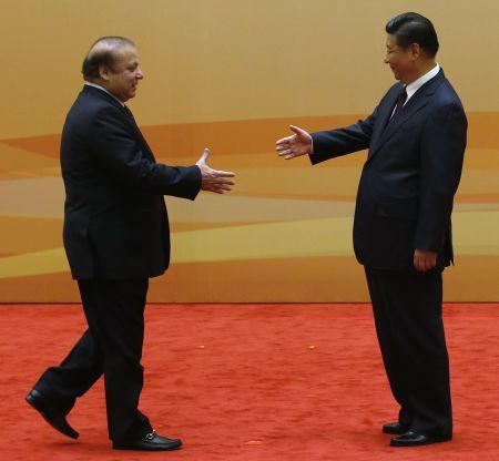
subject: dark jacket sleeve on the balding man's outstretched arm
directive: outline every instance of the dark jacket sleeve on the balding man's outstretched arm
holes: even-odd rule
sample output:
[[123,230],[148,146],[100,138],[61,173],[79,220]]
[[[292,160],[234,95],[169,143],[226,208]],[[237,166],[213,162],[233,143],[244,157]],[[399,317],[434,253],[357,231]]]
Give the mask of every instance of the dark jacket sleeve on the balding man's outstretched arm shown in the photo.
[[201,171],[167,166],[144,156],[126,115],[118,107],[100,110],[89,136],[95,162],[115,181],[152,194],[194,199],[201,189]]

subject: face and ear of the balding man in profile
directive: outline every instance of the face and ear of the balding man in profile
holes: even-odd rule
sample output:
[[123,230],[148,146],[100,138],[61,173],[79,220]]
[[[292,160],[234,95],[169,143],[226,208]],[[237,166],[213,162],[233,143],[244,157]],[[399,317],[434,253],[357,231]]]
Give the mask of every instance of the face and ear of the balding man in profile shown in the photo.
[[105,89],[120,101],[126,102],[135,95],[139,80],[144,78],[139,66],[139,55],[134,47],[124,47],[118,51],[112,69],[101,69]]

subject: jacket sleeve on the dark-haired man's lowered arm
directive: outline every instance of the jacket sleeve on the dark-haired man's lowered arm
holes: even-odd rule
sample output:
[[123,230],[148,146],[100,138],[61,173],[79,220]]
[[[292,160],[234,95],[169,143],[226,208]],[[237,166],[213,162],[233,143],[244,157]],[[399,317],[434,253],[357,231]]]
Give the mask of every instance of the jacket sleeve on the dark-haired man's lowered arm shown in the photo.
[[420,147],[419,216],[415,247],[438,252],[461,177],[468,122],[460,104],[438,107],[426,121]]

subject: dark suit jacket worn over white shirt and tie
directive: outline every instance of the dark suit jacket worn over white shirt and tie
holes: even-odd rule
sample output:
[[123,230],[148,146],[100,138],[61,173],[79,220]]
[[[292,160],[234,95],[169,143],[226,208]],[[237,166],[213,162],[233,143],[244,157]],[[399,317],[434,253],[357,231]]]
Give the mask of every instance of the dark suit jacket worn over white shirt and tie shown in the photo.
[[466,147],[461,102],[440,72],[390,120],[401,83],[364,121],[313,133],[313,164],[368,148],[357,194],[354,248],[359,263],[414,267],[415,248],[452,262],[450,214]]

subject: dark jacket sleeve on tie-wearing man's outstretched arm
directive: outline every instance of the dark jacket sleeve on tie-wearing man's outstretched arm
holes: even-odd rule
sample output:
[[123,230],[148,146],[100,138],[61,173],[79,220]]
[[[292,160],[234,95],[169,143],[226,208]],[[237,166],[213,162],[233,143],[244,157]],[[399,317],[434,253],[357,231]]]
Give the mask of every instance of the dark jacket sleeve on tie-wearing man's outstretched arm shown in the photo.
[[312,133],[314,152],[309,154],[313,165],[329,158],[369,148],[377,107],[366,119],[344,129]]

